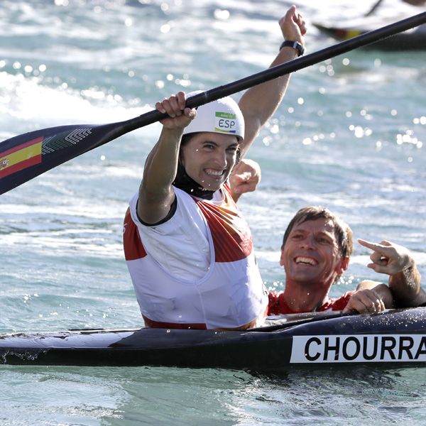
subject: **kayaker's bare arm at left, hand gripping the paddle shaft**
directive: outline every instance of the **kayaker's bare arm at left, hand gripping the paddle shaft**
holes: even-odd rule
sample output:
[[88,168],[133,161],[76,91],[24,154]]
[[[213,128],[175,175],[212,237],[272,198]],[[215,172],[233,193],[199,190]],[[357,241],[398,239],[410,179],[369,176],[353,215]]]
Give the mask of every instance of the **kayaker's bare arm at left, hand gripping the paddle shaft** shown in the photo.
[[172,182],[178,168],[180,139],[183,129],[196,115],[195,109],[185,108],[185,93],[178,92],[155,108],[170,118],[163,124],[160,138],[146,159],[143,180],[139,187],[138,215],[148,224],[155,224],[170,212],[175,200]]

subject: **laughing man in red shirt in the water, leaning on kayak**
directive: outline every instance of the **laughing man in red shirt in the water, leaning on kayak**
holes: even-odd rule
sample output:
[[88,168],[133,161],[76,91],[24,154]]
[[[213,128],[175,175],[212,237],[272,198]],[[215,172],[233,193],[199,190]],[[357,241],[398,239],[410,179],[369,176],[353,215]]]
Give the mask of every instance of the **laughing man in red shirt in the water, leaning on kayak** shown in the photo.
[[356,290],[331,298],[332,285],[346,271],[353,249],[352,231],[337,215],[322,207],[304,207],[290,221],[281,246],[285,290],[269,294],[269,315],[326,310],[374,313],[426,302],[420,273],[408,249],[389,241],[359,239],[373,250],[368,267],[389,275],[388,285],[364,280]]

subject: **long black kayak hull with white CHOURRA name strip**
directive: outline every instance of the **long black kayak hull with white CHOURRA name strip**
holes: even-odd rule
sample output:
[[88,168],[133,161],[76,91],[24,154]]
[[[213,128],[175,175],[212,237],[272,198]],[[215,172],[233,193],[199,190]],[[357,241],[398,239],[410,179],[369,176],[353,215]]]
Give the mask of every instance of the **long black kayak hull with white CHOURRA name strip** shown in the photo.
[[0,335],[0,362],[284,371],[344,365],[426,366],[426,308],[378,315],[287,315],[246,331],[73,330]]

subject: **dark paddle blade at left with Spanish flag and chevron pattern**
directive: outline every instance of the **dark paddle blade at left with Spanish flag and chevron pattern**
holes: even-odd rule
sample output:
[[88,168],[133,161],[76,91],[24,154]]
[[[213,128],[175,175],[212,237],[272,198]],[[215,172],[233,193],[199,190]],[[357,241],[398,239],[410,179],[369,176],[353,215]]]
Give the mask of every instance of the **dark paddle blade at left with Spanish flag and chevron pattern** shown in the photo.
[[121,136],[126,123],[51,127],[0,142],[0,195]]

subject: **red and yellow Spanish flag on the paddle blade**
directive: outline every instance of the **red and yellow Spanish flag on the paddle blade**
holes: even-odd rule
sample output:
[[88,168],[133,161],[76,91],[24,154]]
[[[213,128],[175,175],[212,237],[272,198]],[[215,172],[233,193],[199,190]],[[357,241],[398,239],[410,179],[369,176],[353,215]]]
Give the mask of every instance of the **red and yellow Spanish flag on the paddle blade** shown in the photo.
[[43,136],[0,153],[0,178],[41,163]]

